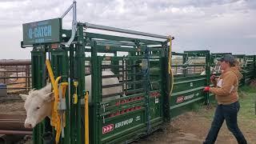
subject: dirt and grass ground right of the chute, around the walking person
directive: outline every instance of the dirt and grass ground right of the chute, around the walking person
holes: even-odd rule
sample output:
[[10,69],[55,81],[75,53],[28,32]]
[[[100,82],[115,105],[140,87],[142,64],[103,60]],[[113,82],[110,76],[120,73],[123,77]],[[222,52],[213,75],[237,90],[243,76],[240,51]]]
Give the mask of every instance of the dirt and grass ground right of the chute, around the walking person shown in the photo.
[[[240,92],[241,109],[238,113],[238,125],[245,135],[249,144],[256,144],[256,114],[254,102],[256,99],[256,89],[248,87],[242,88]],[[162,130],[156,131],[150,137],[138,142],[140,144],[198,144],[206,138],[210,129],[211,121],[214,117],[215,104],[209,110],[202,106],[198,110],[187,112],[172,122],[166,124]],[[220,130],[216,144],[236,144],[233,134],[226,127],[224,122]]]

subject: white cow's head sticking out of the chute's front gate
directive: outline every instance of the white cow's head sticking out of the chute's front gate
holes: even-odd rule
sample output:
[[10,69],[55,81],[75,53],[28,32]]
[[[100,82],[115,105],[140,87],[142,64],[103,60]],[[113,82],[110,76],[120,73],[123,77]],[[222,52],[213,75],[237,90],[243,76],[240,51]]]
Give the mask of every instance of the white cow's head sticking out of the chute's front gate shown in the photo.
[[34,128],[46,116],[50,116],[51,101],[54,99],[51,84],[41,90],[31,90],[28,95],[20,94],[20,96],[25,100],[26,120],[24,126],[26,128]]

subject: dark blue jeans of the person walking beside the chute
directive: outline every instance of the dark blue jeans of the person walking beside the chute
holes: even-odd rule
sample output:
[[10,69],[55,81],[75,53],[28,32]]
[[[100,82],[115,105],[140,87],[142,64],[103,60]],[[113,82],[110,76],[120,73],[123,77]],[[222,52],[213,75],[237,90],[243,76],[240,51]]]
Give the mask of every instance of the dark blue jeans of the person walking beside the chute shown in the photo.
[[211,124],[209,133],[207,134],[204,144],[214,144],[217,139],[218,131],[222,127],[224,119],[226,126],[234,134],[238,144],[247,144],[246,138],[238,128],[238,111],[240,109],[239,102],[231,103],[230,105],[218,105],[214,114],[214,121]]

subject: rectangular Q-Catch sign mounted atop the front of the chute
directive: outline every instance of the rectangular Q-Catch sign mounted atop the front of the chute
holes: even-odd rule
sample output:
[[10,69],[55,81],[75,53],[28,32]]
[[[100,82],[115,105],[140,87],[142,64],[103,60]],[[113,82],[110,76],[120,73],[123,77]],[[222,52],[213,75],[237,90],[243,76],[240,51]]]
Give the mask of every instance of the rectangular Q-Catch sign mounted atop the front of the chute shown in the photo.
[[61,28],[61,18],[25,23],[23,24],[23,43],[24,45],[33,45],[60,42]]

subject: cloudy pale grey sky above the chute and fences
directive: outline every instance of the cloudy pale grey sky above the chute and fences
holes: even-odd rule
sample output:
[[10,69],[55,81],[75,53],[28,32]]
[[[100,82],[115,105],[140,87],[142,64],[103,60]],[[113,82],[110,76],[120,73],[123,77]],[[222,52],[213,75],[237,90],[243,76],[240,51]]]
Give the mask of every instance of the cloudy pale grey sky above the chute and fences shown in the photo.
[[[0,0],[0,59],[30,58],[20,48],[22,23],[60,17],[72,2]],[[80,22],[171,34],[174,51],[256,54],[255,0],[77,0],[77,9]]]

